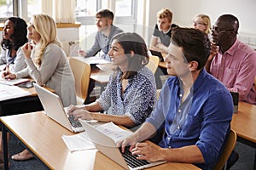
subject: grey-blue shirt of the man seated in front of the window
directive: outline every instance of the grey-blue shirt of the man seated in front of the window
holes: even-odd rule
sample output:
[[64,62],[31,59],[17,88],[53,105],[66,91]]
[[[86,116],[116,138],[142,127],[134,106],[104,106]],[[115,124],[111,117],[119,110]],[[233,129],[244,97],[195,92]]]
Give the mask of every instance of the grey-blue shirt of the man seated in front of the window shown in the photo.
[[88,51],[86,51],[86,54],[87,54],[86,57],[94,56],[100,50],[102,50],[102,52],[104,53],[102,54],[102,59],[107,59],[110,61],[110,57],[108,56],[108,51],[110,49],[112,38],[121,32],[123,31],[116,26],[111,26],[111,31],[108,37],[104,35],[102,31],[97,31],[95,42],[93,46]]

